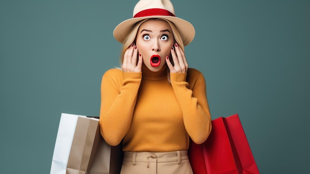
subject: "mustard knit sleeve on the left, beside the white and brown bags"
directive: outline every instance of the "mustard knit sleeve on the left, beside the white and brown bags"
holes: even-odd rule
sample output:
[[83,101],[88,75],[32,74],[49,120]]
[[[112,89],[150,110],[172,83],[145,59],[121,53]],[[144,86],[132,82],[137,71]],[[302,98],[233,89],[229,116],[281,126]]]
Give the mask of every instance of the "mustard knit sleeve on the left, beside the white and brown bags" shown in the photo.
[[104,140],[118,145],[126,135],[136,105],[142,73],[111,69],[101,84],[100,130]]

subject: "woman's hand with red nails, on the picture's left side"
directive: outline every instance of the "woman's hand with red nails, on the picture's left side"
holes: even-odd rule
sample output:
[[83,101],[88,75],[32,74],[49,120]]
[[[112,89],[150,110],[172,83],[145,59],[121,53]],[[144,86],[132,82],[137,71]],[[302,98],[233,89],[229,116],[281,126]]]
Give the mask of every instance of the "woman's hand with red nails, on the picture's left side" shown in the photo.
[[132,44],[124,54],[122,69],[124,72],[141,72],[142,71],[142,55],[139,54],[137,63],[138,47]]

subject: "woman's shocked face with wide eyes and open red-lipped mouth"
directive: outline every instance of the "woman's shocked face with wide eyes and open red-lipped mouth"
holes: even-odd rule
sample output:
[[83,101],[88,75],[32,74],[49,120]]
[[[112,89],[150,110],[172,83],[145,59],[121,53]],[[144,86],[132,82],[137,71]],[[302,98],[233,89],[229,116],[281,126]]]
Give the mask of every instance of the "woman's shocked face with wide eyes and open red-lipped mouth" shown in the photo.
[[174,37],[170,25],[164,20],[150,19],[141,24],[136,45],[143,63],[153,72],[159,71],[170,57]]

